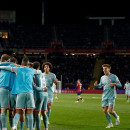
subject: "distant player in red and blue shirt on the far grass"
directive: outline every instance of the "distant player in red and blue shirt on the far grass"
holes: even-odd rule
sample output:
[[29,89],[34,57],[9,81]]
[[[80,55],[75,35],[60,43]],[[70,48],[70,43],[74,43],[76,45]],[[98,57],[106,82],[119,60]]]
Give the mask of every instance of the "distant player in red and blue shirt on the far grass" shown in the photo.
[[81,93],[82,93],[82,84],[81,84],[81,80],[80,79],[77,80],[76,89],[77,89],[77,98],[78,98],[76,103],[79,102],[79,99],[81,99],[82,102],[84,102],[84,99],[80,96]]

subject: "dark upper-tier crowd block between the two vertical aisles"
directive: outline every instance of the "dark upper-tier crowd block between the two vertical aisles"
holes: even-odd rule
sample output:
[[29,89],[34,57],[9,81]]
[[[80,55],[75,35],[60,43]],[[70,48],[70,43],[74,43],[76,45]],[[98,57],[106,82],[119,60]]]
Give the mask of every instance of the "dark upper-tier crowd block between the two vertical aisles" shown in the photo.
[[59,24],[58,39],[65,48],[100,48],[103,41],[103,27],[98,24]]

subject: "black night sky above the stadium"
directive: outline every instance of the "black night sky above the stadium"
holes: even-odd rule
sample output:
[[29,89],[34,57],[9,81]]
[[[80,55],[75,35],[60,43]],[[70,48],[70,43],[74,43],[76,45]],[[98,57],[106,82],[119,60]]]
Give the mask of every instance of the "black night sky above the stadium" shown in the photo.
[[[74,24],[86,23],[86,17],[118,17],[124,16],[129,19],[130,9],[127,3],[105,0],[101,2],[91,1],[67,1],[67,0],[44,0],[45,24]],[[42,0],[27,2],[27,0],[3,1],[0,10],[16,10],[18,23],[41,24]]]

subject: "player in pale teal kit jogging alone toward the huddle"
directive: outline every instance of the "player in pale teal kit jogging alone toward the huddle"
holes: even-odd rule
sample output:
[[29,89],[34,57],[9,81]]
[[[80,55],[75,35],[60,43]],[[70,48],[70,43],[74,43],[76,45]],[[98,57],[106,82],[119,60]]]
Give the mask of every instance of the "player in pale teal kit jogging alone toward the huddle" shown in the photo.
[[109,113],[116,118],[116,125],[120,124],[119,116],[114,111],[114,104],[116,98],[115,87],[122,87],[122,85],[118,77],[110,73],[111,66],[109,64],[103,64],[102,68],[105,75],[101,77],[100,83],[97,84],[96,81],[94,86],[103,87],[102,108],[109,123],[106,128],[111,128],[113,127],[113,124]]

